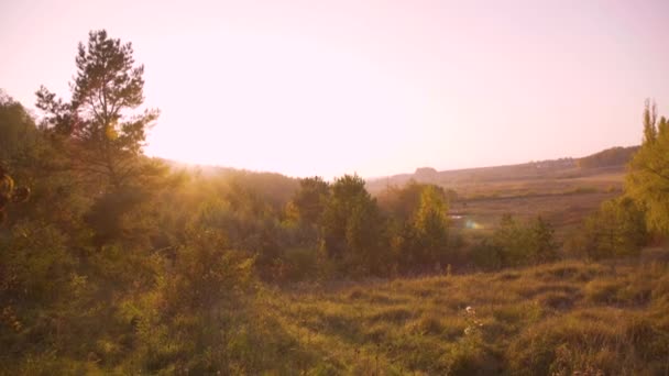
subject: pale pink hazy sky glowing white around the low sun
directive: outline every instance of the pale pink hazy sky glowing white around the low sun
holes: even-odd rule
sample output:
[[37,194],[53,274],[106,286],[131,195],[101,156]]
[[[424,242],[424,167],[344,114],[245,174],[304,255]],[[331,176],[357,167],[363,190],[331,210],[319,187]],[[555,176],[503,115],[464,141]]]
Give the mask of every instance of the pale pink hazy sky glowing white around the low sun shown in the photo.
[[669,114],[669,1],[0,0],[0,88],[68,95],[89,30],[133,43],[147,153],[293,176],[582,156]]

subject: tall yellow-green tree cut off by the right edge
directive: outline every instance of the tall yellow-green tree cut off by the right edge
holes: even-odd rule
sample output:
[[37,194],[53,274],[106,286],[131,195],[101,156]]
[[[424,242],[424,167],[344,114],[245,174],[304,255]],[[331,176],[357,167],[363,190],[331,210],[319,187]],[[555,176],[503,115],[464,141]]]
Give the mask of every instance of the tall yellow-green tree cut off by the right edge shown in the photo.
[[645,210],[648,229],[669,234],[669,123],[646,101],[644,141],[629,164],[626,193]]

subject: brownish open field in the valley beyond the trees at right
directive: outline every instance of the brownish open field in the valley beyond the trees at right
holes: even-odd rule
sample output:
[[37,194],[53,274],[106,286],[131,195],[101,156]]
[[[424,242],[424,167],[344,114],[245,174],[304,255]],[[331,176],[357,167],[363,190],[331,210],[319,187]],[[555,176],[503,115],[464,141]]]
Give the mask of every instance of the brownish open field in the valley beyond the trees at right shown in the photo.
[[402,186],[415,179],[452,190],[452,225],[470,237],[493,230],[508,213],[520,220],[541,215],[556,229],[557,239],[564,240],[603,201],[619,196],[625,180],[625,165],[580,168],[574,164],[558,159],[427,176],[417,172],[371,180],[368,188],[379,193],[388,185]]

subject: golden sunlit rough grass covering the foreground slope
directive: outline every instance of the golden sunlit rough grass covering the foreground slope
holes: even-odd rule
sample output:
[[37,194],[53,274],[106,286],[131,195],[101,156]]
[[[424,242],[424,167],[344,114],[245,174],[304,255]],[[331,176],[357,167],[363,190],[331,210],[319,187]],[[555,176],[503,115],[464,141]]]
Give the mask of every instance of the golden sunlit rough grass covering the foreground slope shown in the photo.
[[234,308],[176,317],[171,331],[140,325],[129,344],[100,338],[85,361],[25,354],[0,375],[669,375],[669,263],[651,251],[617,264],[264,286]]

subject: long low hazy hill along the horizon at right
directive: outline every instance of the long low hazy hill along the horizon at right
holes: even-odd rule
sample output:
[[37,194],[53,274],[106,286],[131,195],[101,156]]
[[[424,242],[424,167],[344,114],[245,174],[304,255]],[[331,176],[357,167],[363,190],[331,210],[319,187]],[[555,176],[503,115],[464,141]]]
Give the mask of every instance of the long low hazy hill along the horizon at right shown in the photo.
[[399,174],[368,180],[370,191],[387,186],[402,186],[409,180],[456,187],[509,180],[578,178],[599,174],[622,173],[638,146],[612,147],[581,157],[529,162],[517,165],[476,167],[439,172],[432,167],[417,168],[413,174]]

